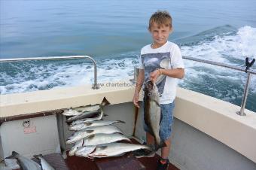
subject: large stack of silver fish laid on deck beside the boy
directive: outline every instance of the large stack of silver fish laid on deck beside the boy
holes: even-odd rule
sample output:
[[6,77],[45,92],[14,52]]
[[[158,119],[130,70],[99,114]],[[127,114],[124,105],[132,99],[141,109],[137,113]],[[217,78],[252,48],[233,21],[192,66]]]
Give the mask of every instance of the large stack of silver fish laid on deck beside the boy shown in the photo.
[[[103,99],[99,105],[70,108],[63,112],[69,117],[69,130],[75,131],[66,144],[74,144],[69,150],[69,156],[84,156],[88,158],[121,156],[134,150],[149,150],[152,148],[142,144],[131,144],[129,138],[123,135],[114,123],[124,123],[121,120],[102,120],[103,108],[109,105],[107,99]],[[118,143],[128,141],[130,143]]]

